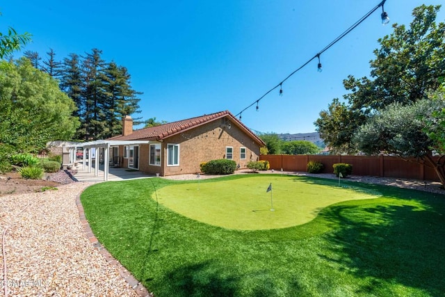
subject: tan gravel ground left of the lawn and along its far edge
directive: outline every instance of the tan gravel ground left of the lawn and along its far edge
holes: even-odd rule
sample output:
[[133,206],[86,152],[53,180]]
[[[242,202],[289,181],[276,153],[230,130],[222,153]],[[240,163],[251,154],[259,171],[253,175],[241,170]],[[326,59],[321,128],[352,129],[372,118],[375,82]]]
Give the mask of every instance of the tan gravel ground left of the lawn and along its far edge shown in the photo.
[[[239,170],[236,173],[248,172]],[[332,174],[310,175],[307,172],[273,173],[337,178]],[[200,175],[199,178],[211,177],[216,176]],[[59,186],[57,191],[0,198],[0,230],[4,245],[4,250],[0,246],[0,289],[3,296],[138,296],[122,278],[119,268],[107,262],[103,250],[95,248],[83,230],[76,197],[91,184],[72,182],[66,175],[56,178],[71,183]],[[177,175],[165,178],[198,177]],[[445,194],[437,182],[357,176],[347,180]]]

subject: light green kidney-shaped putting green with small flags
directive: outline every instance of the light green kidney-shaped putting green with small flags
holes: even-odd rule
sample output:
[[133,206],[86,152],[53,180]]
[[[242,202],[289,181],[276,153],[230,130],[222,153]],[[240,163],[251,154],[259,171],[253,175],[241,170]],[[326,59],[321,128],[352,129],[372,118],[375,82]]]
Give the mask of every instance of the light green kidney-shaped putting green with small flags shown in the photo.
[[[266,193],[270,183],[272,191]],[[305,177],[250,175],[165,186],[152,198],[172,211],[209,225],[231,230],[268,230],[308,223],[323,208],[337,202],[379,195],[364,188]]]

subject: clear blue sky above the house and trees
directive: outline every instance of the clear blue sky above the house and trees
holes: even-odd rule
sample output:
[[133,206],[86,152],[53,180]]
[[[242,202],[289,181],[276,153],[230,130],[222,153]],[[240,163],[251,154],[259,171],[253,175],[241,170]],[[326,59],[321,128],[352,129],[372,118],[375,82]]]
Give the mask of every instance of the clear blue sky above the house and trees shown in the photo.
[[[2,1],[0,31],[27,31],[25,50],[56,58],[101,49],[105,61],[128,68],[140,95],[143,119],[172,122],[257,101],[291,72],[380,3],[339,1]],[[278,90],[242,113],[262,132],[315,131],[318,113],[346,93],[348,74],[369,75],[378,38],[391,24],[410,24],[412,9],[442,1],[387,0],[391,22],[375,11],[353,32],[293,75]],[[445,19],[442,8],[437,21]],[[20,56],[18,53],[15,56]],[[136,115],[137,116],[137,115]]]

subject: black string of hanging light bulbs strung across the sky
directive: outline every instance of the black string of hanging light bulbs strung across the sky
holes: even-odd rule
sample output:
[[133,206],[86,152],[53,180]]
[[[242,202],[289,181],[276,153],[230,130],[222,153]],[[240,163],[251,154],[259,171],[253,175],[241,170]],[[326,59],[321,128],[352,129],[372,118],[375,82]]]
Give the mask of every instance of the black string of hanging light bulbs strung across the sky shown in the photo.
[[[318,58],[318,72],[321,72],[321,63],[320,63],[320,55],[323,54],[325,51],[327,51],[327,49],[330,49],[330,47],[332,47],[333,45],[335,45],[337,42],[339,42],[343,37],[345,37],[346,35],[348,35],[348,33],[350,33],[350,31],[353,31],[355,28],[357,28],[357,26],[359,26],[359,24],[362,24],[362,22],[367,19],[370,15],[372,15],[375,10],[378,10],[378,8],[382,7],[382,11],[383,13],[385,13],[385,10],[383,8],[383,5],[385,4],[387,0],[383,0],[380,3],[378,3],[377,6],[375,6],[373,9],[369,10],[369,13],[366,13],[366,15],[364,15],[363,17],[361,17],[357,22],[355,22],[352,26],[350,26],[348,29],[346,29],[345,31],[343,31],[343,33],[341,33],[337,38],[335,38],[334,40],[332,40],[332,42],[330,42],[329,45],[327,45],[325,48],[323,48],[321,51],[318,51],[318,53],[313,56],[312,58],[310,58],[306,63],[304,63],[303,65],[301,65],[300,67],[298,67],[296,70],[294,70],[291,74],[289,74],[285,79],[283,79],[282,81],[280,81],[280,83],[277,84],[277,86],[274,86],[273,88],[271,88],[270,90],[268,90],[266,93],[264,93],[264,95],[262,95],[261,97],[259,97],[259,99],[255,100],[254,102],[252,102],[252,104],[250,104],[249,106],[247,106],[245,109],[243,109],[242,111],[240,111],[239,113],[237,113],[235,116],[239,115],[239,118],[241,120],[241,113],[243,113],[243,111],[246,111],[247,109],[250,109],[250,107],[254,106],[255,104],[257,104],[258,106],[258,102],[263,99],[264,97],[266,97],[270,92],[272,92],[273,90],[275,90],[276,88],[280,87],[280,95],[283,94],[283,90],[282,90],[282,85],[283,83],[288,80],[290,77],[293,76],[293,74],[296,74],[296,72],[300,71],[302,68],[304,68],[307,64],[311,63],[314,59]],[[382,17],[382,22],[383,22],[383,13],[381,15]],[[387,17],[387,20],[389,22],[389,17],[388,14],[385,13],[385,17]]]

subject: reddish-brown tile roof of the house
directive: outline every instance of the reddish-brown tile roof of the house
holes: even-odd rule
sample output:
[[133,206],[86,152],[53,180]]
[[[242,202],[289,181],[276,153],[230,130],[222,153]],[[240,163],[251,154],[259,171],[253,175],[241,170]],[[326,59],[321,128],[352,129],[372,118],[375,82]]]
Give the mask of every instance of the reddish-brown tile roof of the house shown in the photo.
[[186,120],[179,120],[177,122],[169,122],[164,125],[148,127],[144,129],[134,130],[132,134],[127,136],[113,136],[107,138],[107,140],[113,141],[135,141],[135,140],[149,140],[149,141],[159,141],[164,138],[179,134],[181,132],[193,129],[195,127],[206,124],[207,122],[212,122],[213,120],[218,120],[220,118],[229,118],[235,125],[245,130],[252,138],[254,138],[257,143],[265,145],[261,139],[255,135],[248,127],[246,127],[240,120],[234,117],[229,111],[220,111],[219,113],[211,113],[209,115],[201,115],[196,118],[189,118]]

